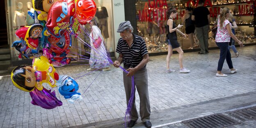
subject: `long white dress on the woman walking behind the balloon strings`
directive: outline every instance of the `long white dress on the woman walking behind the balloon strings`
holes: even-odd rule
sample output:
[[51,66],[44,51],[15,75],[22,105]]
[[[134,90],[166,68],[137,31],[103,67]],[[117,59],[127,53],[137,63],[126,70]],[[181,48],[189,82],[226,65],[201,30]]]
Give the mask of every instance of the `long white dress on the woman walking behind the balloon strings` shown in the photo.
[[[101,46],[98,48],[95,48],[93,43],[98,38],[102,39]],[[89,60],[90,68],[91,69],[104,69],[104,68],[110,67],[110,62],[107,59],[108,55],[107,55],[107,51],[104,46],[104,41],[103,41],[103,37],[101,35],[101,30],[96,25],[93,25],[91,27],[90,45],[91,45],[91,57]]]

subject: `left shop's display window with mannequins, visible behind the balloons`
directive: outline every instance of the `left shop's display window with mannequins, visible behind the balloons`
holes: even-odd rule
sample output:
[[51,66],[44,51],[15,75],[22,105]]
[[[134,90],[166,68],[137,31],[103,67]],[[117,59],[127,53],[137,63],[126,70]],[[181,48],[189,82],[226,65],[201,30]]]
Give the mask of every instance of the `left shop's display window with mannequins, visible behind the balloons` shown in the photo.
[[[40,1],[40,0],[38,0]],[[48,2],[47,0],[42,0],[42,2]],[[58,0],[56,0],[58,1]],[[39,11],[40,9],[35,9],[33,5],[33,0],[6,0],[7,2],[7,28],[8,28],[8,42],[10,44],[11,49],[11,61],[20,61],[20,60],[32,60],[29,59],[30,56],[27,56],[26,59],[24,57],[20,57],[21,54],[18,52],[18,50],[15,47],[12,47],[13,42],[15,41],[21,41],[19,37],[16,35],[16,31],[24,26],[30,26],[34,24],[34,18],[30,14],[30,12],[34,13],[36,10],[37,13],[41,13]],[[110,52],[110,55],[114,56],[114,32],[112,32],[113,28],[113,21],[112,21],[112,0],[94,0],[97,6],[97,12],[96,16],[98,20],[100,21],[100,24],[98,24],[98,27],[101,29],[101,33],[103,35],[104,41],[105,41],[105,47]],[[40,7],[38,7],[40,8]],[[46,9],[46,7],[43,7],[42,9]],[[47,8],[50,9],[50,6]],[[43,10],[44,11],[44,10]],[[44,14],[41,13],[42,18],[44,18]],[[47,14],[46,14],[47,17]],[[41,19],[40,19],[41,20]],[[88,32],[91,30],[91,26],[89,23],[82,26],[83,30],[78,32],[78,36],[85,41],[85,43],[89,43]],[[88,57],[90,49],[83,45],[80,41],[78,41],[77,38],[74,36],[71,36],[71,42],[72,46],[69,47],[69,53],[66,55],[66,57],[75,58],[72,59],[71,62],[79,62],[83,57]],[[23,52],[25,54],[25,52]],[[40,54],[35,53],[35,54]],[[33,55],[36,56],[36,55]],[[33,58],[33,57],[31,57]],[[85,59],[82,59],[85,61]]]

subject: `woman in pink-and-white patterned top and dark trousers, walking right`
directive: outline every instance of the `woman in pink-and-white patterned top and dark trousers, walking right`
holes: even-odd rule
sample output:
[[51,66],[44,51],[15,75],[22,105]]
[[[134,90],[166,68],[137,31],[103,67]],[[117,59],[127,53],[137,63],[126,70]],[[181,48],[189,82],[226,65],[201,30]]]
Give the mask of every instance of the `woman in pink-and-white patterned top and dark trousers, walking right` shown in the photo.
[[229,69],[231,70],[231,74],[237,72],[237,70],[233,68],[231,54],[229,51],[230,38],[235,39],[235,41],[237,41],[238,44],[240,44],[240,47],[243,46],[243,43],[239,41],[231,31],[231,23],[228,21],[230,15],[231,14],[229,8],[225,7],[219,16],[219,21],[217,23],[218,29],[215,37],[215,42],[217,46],[219,46],[220,54],[216,76],[228,76],[222,73],[222,67],[225,59],[226,62],[228,63]]

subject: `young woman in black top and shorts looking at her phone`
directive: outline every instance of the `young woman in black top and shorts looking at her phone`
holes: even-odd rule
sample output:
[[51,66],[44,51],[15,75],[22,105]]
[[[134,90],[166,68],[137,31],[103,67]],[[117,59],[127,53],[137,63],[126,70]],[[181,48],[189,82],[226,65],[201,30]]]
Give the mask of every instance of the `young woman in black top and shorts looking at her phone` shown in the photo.
[[186,35],[184,33],[182,33],[180,30],[178,30],[183,25],[178,24],[178,26],[176,27],[176,25],[173,21],[173,19],[176,18],[177,14],[178,14],[178,11],[174,8],[170,8],[168,13],[167,13],[167,16],[168,16],[168,20],[167,20],[168,54],[167,54],[167,57],[166,57],[167,70],[166,70],[165,73],[175,72],[175,70],[170,69],[170,59],[171,59],[171,55],[172,55],[173,50],[176,50],[179,54],[178,61],[179,61],[179,64],[180,64],[180,73],[189,73],[190,72],[190,70],[187,70],[186,68],[184,68],[183,64],[182,64],[183,63],[183,50],[181,49],[181,46],[178,43],[176,32],[181,34],[183,37],[186,37]]

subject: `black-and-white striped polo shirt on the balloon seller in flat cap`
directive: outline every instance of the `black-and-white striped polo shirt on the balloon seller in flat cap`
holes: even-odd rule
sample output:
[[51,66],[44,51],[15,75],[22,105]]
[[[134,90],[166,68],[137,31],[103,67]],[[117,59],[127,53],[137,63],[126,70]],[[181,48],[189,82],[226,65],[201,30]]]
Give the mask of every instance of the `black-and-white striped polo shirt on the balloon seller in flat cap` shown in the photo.
[[131,48],[129,48],[126,40],[120,38],[117,43],[116,52],[123,55],[123,64],[131,68],[136,67],[142,61],[143,56],[148,54],[144,39],[135,34],[133,34]]

